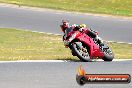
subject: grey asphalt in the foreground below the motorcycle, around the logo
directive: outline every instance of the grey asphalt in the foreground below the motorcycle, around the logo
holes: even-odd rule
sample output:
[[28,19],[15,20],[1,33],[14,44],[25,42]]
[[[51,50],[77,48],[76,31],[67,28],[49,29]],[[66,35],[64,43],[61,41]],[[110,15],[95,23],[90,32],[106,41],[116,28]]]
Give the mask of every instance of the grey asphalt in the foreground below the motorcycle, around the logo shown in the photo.
[[[87,73],[132,75],[132,61],[113,62],[12,62],[0,63],[0,88],[80,88],[76,83],[79,65]],[[131,88],[130,84],[86,84],[83,88]]]

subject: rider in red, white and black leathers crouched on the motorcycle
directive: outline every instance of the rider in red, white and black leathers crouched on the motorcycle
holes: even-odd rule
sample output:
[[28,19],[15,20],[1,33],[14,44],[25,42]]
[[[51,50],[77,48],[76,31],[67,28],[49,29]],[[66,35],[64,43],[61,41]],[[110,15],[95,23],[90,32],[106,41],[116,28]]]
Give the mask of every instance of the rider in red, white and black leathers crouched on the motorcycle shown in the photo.
[[99,45],[103,45],[102,39],[97,36],[97,32],[96,31],[93,31],[91,29],[88,29],[85,24],[81,24],[79,26],[76,25],[76,24],[70,26],[69,24],[70,24],[69,21],[62,20],[62,25],[60,25],[60,27],[61,27],[61,29],[62,29],[62,31],[64,33],[63,41],[64,41],[64,44],[65,45],[68,45],[69,44],[67,41],[65,41],[65,36],[67,35],[66,34],[66,30],[69,30],[69,29],[72,29],[72,30],[77,30],[78,29],[79,31],[82,31],[82,32],[86,33],[91,38],[94,38],[95,40],[97,40],[98,43],[99,43]]

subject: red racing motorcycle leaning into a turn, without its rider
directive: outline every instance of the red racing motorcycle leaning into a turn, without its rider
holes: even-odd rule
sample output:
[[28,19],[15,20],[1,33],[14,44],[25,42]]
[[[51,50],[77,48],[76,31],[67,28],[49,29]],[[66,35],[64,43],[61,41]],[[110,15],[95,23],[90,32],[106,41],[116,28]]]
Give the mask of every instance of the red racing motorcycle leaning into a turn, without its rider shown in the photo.
[[94,59],[103,59],[104,61],[112,61],[114,54],[108,44],[104,41],[100,45],[98,41],[91,38],[82,31],[72,29],[66,30],[65,42],[68,42],[66,47],[70,48],[73,56],[77,56],[81,61],[88,62]]

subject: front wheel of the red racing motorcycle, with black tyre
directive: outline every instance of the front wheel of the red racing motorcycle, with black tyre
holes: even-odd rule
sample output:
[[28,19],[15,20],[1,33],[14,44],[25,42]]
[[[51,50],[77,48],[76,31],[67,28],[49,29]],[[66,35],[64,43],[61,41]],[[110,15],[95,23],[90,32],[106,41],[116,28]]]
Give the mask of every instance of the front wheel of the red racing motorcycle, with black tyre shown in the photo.
[[81,61],[91,61],[88,48],[86,46],[83,46],[81,42],[73,42],[71,44],[71,50]]

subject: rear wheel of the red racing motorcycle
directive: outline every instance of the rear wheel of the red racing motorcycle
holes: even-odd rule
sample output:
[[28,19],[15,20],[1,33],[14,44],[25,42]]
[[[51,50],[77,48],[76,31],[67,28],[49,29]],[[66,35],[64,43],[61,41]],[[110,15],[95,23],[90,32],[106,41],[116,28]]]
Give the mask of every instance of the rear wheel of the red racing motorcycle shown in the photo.
[[[107,44],[105,44],[107,46]],[[113,51],[110,49],[110,47],[107,46],[107,48],[103,48],[104,57],[102,58],[104,61],[112,61],[114,58]]]

